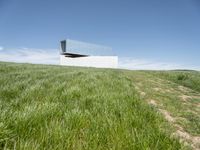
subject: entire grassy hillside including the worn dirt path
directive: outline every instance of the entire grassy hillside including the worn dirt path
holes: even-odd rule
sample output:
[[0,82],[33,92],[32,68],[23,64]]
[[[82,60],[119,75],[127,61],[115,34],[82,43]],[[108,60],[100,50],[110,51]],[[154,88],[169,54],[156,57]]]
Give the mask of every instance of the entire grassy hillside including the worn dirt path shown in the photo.
[[199,149],[199,76],[1,62],[0,149]]

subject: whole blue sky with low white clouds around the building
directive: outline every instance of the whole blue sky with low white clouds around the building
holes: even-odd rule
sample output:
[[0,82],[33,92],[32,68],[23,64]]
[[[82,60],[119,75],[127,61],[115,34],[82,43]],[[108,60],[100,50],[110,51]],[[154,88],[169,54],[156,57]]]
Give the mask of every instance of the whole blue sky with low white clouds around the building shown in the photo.
[[199,0],[0,0],[0,61],[59,63],[59,41],[111,46],[120,68],[200,70]]

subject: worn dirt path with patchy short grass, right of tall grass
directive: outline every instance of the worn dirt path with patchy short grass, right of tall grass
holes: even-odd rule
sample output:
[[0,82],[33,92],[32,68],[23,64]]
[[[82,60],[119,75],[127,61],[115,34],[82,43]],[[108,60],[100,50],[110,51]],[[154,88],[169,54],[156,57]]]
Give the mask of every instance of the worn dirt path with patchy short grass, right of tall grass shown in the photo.
[[200,150],[200,93],[144,72],[135,72],[131,79],[140,97],[172,124],[172,136]]

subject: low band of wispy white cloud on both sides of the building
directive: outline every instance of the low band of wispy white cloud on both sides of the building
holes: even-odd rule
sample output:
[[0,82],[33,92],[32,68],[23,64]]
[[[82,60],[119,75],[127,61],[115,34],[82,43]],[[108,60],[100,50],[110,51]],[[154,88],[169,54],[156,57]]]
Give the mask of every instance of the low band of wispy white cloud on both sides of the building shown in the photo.
[[[59,50],[34,48],[6,49],[0,47],[0,61],[58,65]],[[158,62],[133,57],[119,57],[119,68],[131,70],[200,70],[200,67],[198,68],[195,66],[186,66],[171,62]]]

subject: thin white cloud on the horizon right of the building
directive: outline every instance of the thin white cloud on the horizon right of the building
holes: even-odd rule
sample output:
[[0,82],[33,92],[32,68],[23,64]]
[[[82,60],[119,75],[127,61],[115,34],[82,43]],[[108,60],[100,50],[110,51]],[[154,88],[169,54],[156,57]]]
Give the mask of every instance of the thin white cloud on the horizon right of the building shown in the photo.
[[145,59],[134,59],[131,57],[119,58],[119,68],[131,69],[131,70],[173,70],[173,69],[200,70],[200,68],[194,66],[187,66],[172,62],[158,62]]

